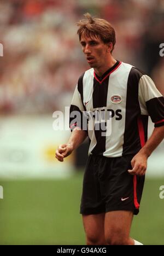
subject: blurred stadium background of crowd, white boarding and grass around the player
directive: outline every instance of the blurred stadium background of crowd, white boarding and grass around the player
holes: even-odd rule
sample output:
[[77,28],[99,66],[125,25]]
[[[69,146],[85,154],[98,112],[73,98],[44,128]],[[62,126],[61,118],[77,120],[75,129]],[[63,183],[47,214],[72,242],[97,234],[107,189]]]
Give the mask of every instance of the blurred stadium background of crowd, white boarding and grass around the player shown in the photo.
[[[57,145],[70,132],[54,131],[52,114],[69,106],[80,74],[89,68],[76,26],[86,12],[113,25],[114,57],[149,74],[164,95],[163,0],[1,0],[1,245],[85,244],[79,206],[87,143],[57,162]],[[162,142],[149,159],[132,226],[131,235],[147,245],[164,245],[163,149]]]

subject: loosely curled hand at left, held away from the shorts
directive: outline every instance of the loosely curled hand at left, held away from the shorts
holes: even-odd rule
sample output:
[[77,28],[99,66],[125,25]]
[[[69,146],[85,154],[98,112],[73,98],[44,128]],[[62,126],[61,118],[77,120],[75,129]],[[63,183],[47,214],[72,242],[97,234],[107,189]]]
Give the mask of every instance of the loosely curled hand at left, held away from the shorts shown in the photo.
[[56,150],[55,157],[58,161],[63,162],[64,158],[70,155],[73,152],[73,145],[72,144],[62,144],[58,146]]

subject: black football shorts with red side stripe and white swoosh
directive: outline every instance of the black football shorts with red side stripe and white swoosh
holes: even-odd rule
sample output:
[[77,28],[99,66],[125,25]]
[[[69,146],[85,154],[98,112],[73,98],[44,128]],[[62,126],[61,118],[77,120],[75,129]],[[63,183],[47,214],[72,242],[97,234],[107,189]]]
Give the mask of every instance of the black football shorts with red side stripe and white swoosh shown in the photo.
[[80,213],[132,211],[137,215],[145,176],[132,176],[132,155],[119,158],[90,155],[84,173]]

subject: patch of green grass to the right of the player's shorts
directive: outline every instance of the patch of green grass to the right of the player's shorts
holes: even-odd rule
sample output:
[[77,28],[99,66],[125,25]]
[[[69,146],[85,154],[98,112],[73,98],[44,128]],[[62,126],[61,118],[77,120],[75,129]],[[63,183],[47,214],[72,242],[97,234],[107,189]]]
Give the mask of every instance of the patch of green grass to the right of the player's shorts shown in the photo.
[[164,178],[146,179],[140,213],[134,217],[131,236],[144,245],[164,245],[164,199],[159,188]]

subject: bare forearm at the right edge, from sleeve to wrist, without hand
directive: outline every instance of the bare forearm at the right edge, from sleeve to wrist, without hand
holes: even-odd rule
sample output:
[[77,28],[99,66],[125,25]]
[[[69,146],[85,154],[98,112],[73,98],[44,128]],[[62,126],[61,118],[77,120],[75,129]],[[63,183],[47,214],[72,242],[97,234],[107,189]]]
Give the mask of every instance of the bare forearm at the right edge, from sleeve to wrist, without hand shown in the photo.
[[145,154],[148,157],[153,153],[157,146],[162,142],[164,138],[164,126],[156,127],[148,139],[145,146],[139,151],[139,153]]

